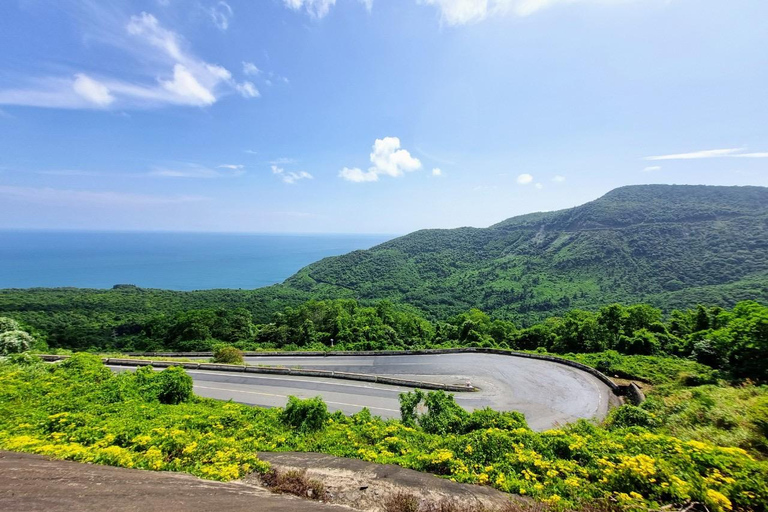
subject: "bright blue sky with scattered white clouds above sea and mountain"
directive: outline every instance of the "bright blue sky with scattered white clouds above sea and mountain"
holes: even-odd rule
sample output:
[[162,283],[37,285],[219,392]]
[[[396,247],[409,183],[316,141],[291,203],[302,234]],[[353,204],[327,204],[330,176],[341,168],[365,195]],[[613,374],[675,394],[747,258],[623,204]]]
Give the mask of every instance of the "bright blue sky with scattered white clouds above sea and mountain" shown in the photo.
[[762,0],[7,0],[0,228],[405,233],[768,186]]

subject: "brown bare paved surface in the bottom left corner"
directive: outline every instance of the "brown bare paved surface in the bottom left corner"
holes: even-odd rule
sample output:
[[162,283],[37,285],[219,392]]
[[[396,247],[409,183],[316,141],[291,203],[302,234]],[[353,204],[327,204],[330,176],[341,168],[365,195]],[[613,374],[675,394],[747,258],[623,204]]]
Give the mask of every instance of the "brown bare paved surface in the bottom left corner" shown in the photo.
[[348,508],[200,480],[0,451],[0,510],[8,512],[332,512]]

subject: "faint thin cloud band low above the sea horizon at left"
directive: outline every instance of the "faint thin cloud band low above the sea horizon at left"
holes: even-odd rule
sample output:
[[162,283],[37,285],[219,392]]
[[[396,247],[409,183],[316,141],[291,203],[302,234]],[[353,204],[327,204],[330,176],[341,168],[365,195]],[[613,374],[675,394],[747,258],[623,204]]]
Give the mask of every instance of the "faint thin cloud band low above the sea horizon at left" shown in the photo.
[[136,206],[178,204],[207,201],[200,196],[158,196],[114,191],[72,190],[50,187],[15,187],[0,185],[0,197],[7,200],[43,203],[46,205],[96,204],[104,206]]

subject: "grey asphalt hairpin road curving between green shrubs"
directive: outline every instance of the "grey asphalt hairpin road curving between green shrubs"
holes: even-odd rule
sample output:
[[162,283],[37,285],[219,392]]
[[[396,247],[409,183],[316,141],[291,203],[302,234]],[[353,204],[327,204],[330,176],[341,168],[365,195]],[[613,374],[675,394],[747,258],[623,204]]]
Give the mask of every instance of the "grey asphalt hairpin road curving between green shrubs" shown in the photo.
[[[260,356],[253,365],[289,366],[366,373],[444,384],[470,381],[479,392],[456,393],[468,410],[489,406],[520,411],[535,430],[579,418],[602,419],[615,401],[610,388],[589,373],[570,366],[494,354],[409,356]],[[410,388],[315,377],[187,370],[200,396],[266,407],[282,407],[289,395],[321,395],[331,410],[346,414],[368,407],[384,418],[400,416],[398,394]]]

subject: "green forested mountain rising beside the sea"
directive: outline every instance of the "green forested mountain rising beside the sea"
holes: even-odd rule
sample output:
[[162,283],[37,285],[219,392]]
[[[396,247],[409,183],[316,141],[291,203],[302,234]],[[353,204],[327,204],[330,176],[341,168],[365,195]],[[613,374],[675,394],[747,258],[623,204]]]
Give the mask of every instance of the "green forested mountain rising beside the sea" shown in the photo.
[[527,323],[611,302],[768,300],[767,255],[768,188],[641,185],[484,229],[417,231],[323,259],[285,286]]

